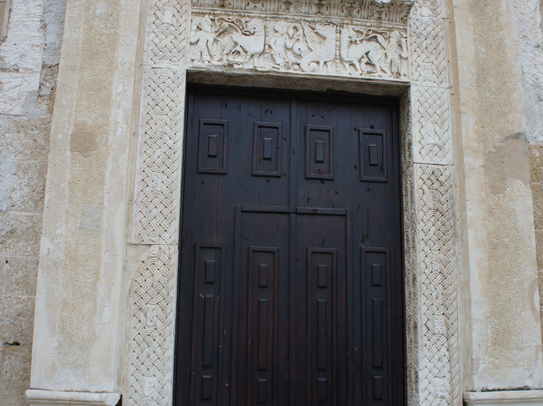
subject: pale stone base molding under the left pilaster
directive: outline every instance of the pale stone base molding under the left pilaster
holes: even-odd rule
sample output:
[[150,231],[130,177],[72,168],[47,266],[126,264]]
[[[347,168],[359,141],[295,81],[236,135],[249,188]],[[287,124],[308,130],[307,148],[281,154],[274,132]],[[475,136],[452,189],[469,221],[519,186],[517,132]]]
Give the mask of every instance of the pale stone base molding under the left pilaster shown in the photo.
[[113,393],[63,392],[28,389],[24,394],[30,406],[115,406],[121,395]]

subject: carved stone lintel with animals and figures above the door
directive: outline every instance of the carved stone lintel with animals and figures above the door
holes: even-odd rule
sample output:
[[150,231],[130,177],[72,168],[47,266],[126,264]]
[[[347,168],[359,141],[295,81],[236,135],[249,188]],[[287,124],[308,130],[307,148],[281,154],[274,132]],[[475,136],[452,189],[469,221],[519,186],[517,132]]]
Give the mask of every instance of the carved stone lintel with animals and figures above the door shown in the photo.
[[193,1],[188,65],[408,80],[406,2],[236,3]]

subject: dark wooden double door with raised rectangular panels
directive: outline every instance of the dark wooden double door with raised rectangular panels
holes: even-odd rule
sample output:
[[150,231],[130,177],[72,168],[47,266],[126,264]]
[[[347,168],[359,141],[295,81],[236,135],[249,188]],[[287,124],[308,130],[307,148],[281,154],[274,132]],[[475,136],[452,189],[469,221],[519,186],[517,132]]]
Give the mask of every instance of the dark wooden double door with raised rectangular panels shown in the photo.
[[395,101],[188,100],[176,404],[404,404]]

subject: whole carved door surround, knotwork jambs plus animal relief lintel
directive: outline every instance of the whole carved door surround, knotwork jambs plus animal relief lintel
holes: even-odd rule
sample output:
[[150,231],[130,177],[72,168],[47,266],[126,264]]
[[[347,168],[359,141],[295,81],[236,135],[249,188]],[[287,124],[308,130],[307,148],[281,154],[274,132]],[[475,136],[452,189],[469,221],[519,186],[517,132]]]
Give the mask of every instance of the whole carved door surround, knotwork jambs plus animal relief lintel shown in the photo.
[[412,5],[401,0],[150,0],[132,240],[166,245],[150,248],[130,287],[127,405],[172,402],[182,67],[378,80],[386,86],[409,83],[409,59],[413,85],[400,108],[408,402],[460,403],[452,131],[440,18],[445,7],[441,0],[416,0],[408,18]]

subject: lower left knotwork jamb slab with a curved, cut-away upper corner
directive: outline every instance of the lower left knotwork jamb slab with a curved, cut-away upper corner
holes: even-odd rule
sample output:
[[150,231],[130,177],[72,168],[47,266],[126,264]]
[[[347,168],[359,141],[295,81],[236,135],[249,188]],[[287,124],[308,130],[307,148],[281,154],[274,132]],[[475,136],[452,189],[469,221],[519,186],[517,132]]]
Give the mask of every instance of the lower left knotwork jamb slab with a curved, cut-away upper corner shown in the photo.
[[176,246],[152,246],[130,285],[127,406],[172,404],[177,256]]

